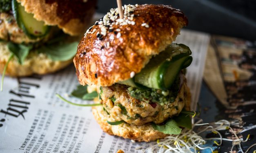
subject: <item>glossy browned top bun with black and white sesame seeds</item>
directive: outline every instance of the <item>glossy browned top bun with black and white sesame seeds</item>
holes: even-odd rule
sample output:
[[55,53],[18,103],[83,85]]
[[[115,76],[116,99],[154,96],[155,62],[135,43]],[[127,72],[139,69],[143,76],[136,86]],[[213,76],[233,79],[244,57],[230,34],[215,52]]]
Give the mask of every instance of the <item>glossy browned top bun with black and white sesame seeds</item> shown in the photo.
[[80,84],[110,86],[133,77],[188,24],[180,10],[167,5],[125,5],[123,10],[123,20],[118,9],[111,9],[82,38],[73,60]]

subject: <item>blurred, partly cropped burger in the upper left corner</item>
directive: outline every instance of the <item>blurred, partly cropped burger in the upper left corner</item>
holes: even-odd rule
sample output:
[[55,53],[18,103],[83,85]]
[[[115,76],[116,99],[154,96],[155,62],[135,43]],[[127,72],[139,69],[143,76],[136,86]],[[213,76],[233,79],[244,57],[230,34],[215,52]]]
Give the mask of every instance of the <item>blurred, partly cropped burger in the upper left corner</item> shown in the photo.
[[0,72],[28,76],[69,65],[95,6],[96,0],[1,0]]

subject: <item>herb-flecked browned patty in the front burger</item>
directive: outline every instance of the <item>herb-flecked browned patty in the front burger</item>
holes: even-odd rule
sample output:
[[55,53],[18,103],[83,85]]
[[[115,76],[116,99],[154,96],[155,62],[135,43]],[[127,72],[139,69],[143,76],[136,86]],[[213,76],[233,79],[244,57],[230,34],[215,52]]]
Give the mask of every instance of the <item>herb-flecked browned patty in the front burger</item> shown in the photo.
[[109,87],[100,87],[98,90],[103,107],[111,118],[135,125],[143,125],[147,122],[162,123],[167,118],[179,114],[185,104],[188,106],[190,103],[186,81],[183,81],[174,102],[167,105],[140,101],[129,94],[128,86],[118,83]]

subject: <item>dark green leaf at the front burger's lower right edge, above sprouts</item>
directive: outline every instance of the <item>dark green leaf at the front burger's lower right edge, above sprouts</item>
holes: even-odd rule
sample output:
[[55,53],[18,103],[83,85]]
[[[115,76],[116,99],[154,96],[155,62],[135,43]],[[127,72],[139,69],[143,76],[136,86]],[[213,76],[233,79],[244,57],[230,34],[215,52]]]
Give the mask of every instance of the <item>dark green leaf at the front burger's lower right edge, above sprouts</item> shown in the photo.
[[175,120],[180,127],[192,129],[191,118],[187,114],[180,113],[178,116],[175,116],[173,120]]

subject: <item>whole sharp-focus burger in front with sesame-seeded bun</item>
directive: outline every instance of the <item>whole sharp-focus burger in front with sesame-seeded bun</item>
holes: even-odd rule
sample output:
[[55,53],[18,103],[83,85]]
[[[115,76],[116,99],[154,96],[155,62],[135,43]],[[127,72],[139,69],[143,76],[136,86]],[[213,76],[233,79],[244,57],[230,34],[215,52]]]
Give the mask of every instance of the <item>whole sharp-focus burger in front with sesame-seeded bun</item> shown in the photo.
[[[191,50],[172,43],[187,17],[167,5],[125,5],[87,30],[73,60],[81,85],[98,92],[92,108],[106,133],[152,141],[191,126],[185,68]],[[190,123],[189,123],[190,122]]]

